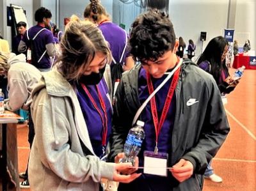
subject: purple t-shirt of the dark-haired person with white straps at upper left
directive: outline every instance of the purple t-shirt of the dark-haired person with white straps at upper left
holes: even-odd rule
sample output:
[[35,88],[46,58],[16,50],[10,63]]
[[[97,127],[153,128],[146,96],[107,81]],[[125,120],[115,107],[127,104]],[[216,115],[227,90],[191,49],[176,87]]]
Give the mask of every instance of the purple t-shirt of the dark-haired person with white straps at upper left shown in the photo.
[[[43,28],[44,27],[39,26],[39,25],[31,27],[28,30],[29,39],[32,40],[34,38],[34,36],[36,35],[36,33],[38,33],[38,31],[40,31]],[[31,44],[27,37],[27,32],[24,34],[22,41],[24,41],[26,43],[27,47],[31,47]],[[46,50],[45,45],[47,45],[49,43],[54,43],[54,38],[53,38],[53,34],[51,31],[43,30],[38,34],[38,36],[36,36],[34,43],[33,43],[35,45],[35,49],[33,51],[35,51],[36,57],[38,57],[38,59],[42,56],[42,54],[44,54],[44,52]],[[46,52],[39,63],[32,63],[32,64],[35,65],[36,68],[42,68],[42,69],[50,68],[51,67],[51,59]]]

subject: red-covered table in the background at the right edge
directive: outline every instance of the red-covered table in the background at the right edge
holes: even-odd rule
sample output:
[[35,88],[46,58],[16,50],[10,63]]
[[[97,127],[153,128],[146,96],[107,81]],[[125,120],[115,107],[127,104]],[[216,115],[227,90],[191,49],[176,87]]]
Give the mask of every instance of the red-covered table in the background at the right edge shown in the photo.
[[233,68],[245,66],[246,69],[256,70],[256,56],[244,56],[242,54],[234,57]]

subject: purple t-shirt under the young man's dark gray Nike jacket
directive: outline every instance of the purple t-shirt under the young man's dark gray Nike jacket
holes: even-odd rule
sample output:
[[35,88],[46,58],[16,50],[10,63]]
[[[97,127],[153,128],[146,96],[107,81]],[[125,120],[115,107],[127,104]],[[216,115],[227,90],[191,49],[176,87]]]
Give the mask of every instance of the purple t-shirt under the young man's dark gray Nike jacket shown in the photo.
[[[166,78],[166,75],[161,77],[160,79],[152,78],[152,84],[154,89],[163,82]],[[166,96],[168,94],[168,90],[170,88],[170,84],[172,79],[168,80],[166,84],[164,84],[163,88],[161,88],[155,95],[156,97],[156,105],[157,105],[157,114],[158,119],[160,120],[161,114],[163,111],[164,102],[166,100]],[[143,68],[140,70],[139,79],[138,79],[138,94],[139,100],[142,104],[149,96],[148,86],[147,86],[147,75]],[[170,105],[169,111],[167,113],[166,119],[164,121],[163,127],[161,128],[161,132],[158,137],[158,149],[159,152],[164,152],[169,154],[172,149],[172,130],[175,119],[175,109],[176,109],[176,96],[175,92],[173,93],[172,103]],[[150,107],[150,102],[147,104],[143,112],[141,113],[141,120],[145,122],[144,130],[145,130],[145,140],[143,142],[143,146],[141,148],[139,158],[140,158],[140,166],[143,166],[143,151],[154,151],[156,146],[156,132],[154,127],[154,121],[152,118],[152,112]],[[138,179],[132,181],[129,185],[129,188],[132,190],[171,190],[170,183],[172,182],[172,177],[170,176],[170,172],[168,172],[168,177],[154,176],[150,174],[142,174]],[[122,187],[122,186],[121,186]],[[126,187],[126,185],[125,185]],[[121,189],[122,190],[122,189]]]

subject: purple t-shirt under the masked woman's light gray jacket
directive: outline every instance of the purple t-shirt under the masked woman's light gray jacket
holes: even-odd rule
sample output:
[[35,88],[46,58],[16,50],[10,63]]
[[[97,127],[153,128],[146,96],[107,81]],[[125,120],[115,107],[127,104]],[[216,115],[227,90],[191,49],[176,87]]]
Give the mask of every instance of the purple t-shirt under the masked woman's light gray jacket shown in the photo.
[[[112,118],[113,110],[110,102],[110,97],[108,95],[108,86],[104,79],[100,80],[98,87],[102,95],[102,98],[104,100],[104,103],[106,104],[106,112],[108,114],[108,135],[107,135],[107,143],[108,143],[109,136],[111,135],[111,125],[112,125],[111,118]],[[86,86],[86,88],[88,89],[88,91],[94,98],[95,102],[97,103],[97,106],[99,107],[102,116],[104,116],[104,112],[102,110],[102,107],[100,106],[99,96],[98,96],[96,87],[94,85],[90,85],[90,86]],[[102,129],[103,129],[102,121],[100,119],[100,114],[97,112],[97,110],[93,106],[90,98],[85,93],[81,85],[77,86],[77,98],[79,100],[79,103],[84,115],[84,120],[86,121],[93,151],[95,155],[100,157],[102,155]]]

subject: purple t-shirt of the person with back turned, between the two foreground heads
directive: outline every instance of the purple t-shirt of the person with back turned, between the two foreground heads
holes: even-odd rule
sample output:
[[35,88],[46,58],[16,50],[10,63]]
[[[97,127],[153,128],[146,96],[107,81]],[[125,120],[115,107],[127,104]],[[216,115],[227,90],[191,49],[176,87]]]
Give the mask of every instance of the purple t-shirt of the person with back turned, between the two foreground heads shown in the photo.
[[[112,55],[116,63],[118,63],[125,47],[125,35],[127,33],[113,22],[104,22],[100,24],[99,29],[102,31],[106,41],[108,41]],[[126,49],[121,63],[124,63],[127,56],[129,56],[129,52]]]

